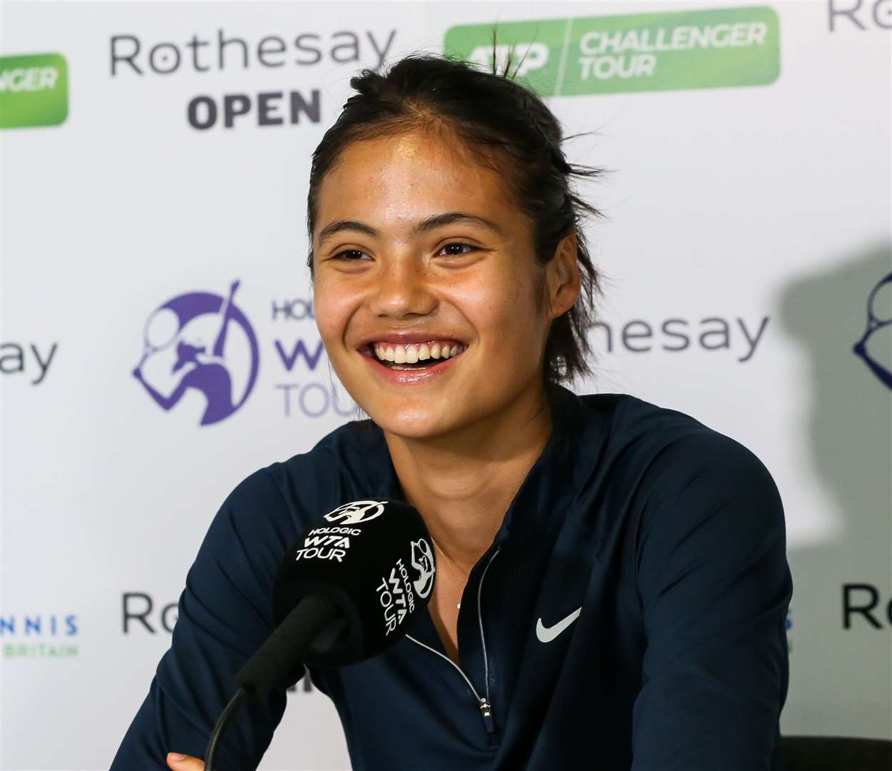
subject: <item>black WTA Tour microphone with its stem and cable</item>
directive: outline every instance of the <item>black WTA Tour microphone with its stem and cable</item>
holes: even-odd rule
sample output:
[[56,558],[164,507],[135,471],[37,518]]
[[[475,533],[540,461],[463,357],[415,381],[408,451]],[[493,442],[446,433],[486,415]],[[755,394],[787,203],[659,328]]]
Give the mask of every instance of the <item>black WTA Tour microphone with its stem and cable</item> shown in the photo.
[[235,676],[238,690],[211,734],[206,771],[242,701],[291,685],[305,664],[342,666],[383,652],[425,611],[435,573],[425,521],[404,501],[351,501],[315,522],[279,567],[277,627]]

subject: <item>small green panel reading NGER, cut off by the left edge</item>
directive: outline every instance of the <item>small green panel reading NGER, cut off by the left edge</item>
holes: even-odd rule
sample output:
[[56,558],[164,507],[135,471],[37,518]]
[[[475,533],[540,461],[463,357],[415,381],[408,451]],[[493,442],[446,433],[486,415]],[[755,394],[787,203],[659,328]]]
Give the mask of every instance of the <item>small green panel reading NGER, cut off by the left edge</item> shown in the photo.
[[59,53],[0,56],[0,128],[58,126],[68,117],[68,64]]

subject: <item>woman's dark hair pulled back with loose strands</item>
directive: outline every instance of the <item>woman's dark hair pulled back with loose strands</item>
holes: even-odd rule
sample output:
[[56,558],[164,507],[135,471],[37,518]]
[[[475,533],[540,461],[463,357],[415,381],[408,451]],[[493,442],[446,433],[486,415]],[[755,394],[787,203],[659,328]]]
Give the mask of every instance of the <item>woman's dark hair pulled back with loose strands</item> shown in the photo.
[[[587,331],[595,321],[595,296],[602,292],[581,223],[586,214],[604,215],[574,193],[570,179],[599,178],[607,169],[566,161],[558,119],[537,94],[508,76],[510,55],[504,70],[497,72],[495,51],[493,39],[491,72],[448,55],[413,53],[384,74],[365,69],[351,78],[350,85],[359,93],[344,103],[313,152],[307,201],[310,280],[319,186],[343,150],[355,141],[419,127],[440,130],[463,144],[481,165],[505,177],[518,209],[533,223],[533,247],[541,267],[555,258],[561,239],[576,235],[580,295],[573,308],[552,321],[543,366],[545,381],[573,381],[592,374]],[[540,289],[541,308],[547,296],[544,272]]]

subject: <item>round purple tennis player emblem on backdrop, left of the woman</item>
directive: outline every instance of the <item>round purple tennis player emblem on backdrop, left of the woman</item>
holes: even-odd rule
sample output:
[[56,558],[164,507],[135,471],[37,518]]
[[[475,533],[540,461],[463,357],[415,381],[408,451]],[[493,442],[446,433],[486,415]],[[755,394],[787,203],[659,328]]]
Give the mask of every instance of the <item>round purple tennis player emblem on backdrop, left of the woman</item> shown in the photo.
[[227,297],[193,291],[169,299],[145,322],[145,349],[133,376],[164,410],[204,398],[202,426],[229,417],[251,393],[260,365],[257,336]]

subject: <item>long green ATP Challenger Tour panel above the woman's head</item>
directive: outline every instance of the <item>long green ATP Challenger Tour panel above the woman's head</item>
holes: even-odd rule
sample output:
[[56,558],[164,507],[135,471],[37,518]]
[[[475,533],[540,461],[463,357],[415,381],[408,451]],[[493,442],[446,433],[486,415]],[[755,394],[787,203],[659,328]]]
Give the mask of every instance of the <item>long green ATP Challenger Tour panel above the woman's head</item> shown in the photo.
[[[767,86],[780,74],[780,22],[762,6],[500,24],[499,69],[542,96]],[[444,53],[492,65],[491,24],[446,32]],[[523,62],[521,62],[523,60]]]

